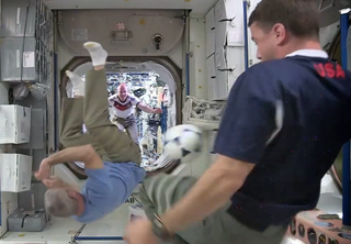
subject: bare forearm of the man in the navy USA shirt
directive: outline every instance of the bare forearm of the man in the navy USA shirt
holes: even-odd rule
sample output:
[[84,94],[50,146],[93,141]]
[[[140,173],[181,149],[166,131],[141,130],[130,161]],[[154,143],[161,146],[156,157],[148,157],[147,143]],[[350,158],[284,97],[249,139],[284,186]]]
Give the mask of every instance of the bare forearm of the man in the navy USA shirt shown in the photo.
[[189,193],[161,217],[162,223],[169,232],[174,233],[203,220],[228,202],[253,167],[254,164],[219,155]]

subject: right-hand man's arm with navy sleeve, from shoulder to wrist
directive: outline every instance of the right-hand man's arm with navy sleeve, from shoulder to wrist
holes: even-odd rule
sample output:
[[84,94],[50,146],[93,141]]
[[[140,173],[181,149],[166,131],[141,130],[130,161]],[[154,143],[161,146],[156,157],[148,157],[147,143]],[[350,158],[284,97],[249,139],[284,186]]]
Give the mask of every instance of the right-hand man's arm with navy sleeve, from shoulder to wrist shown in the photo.
[[[238,191],[275,130],[275,99],[264,77],[242,75],[228,98],[215,143],[216,163],[186,196],[160,217],[170,233],[203,220],[223,207]],[[273,80],[269,80],[273,81]]]

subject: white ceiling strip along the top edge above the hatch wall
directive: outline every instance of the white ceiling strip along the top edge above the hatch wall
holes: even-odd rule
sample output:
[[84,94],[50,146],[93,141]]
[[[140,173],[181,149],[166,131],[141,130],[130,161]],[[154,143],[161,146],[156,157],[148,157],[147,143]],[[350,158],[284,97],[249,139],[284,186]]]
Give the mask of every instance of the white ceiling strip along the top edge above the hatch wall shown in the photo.
[[179,9],[207,13],[217,0],[43,0],[50,9]]

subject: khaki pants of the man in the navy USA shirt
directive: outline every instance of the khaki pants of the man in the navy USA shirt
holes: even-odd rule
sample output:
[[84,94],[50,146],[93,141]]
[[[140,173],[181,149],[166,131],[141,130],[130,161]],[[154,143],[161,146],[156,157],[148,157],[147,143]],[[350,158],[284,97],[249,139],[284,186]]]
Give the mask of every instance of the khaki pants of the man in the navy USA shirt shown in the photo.
[[[156,175],[144,179],[133,193],[148,218],[162,214],[185,196],[196,179],[193,177]],[[202,222],[178,232],[168,244],[280,244],[287,226],[270,226],[264,232],[250,230],[230,217],[227,207],[216,211]],[[191,213],[190,213],[191,214]]]

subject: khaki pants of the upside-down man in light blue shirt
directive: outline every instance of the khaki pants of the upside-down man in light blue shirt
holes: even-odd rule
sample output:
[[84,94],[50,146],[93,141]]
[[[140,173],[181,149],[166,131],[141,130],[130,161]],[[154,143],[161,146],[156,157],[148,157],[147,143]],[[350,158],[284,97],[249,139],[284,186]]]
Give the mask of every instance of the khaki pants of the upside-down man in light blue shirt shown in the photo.
[[[66,98],[60,114],[60,143],[65,147],[91,144],[107,162],[141,163],[139,147],[109,119],[105,70],[91,69],[86,76],[84,98]],[[87,133],[82,133],[82,124]]]

